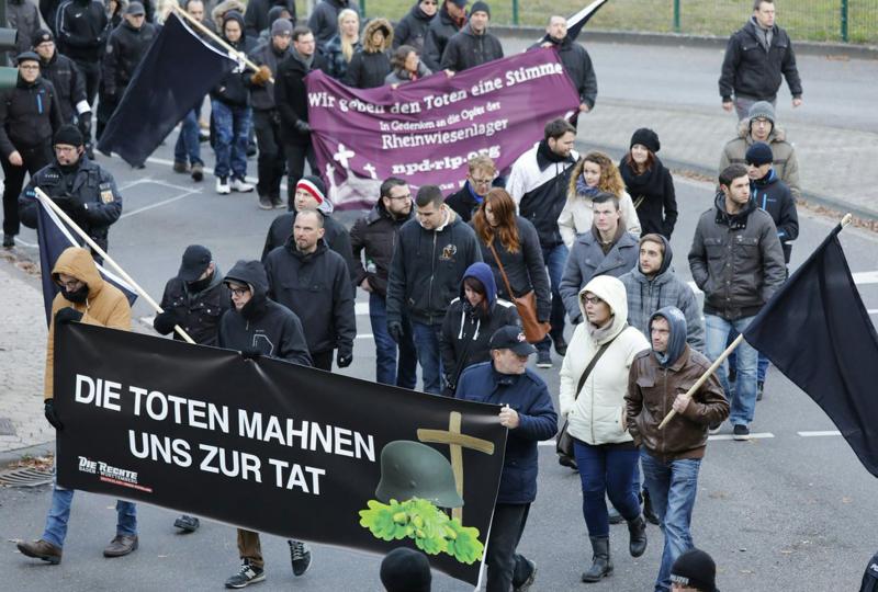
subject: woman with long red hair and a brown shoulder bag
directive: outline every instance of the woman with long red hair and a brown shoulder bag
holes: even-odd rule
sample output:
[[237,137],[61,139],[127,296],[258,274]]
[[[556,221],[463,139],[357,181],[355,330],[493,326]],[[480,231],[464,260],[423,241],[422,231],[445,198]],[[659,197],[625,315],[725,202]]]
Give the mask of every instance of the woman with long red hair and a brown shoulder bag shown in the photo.
[[[537,296],[537,318],[541,322],[548,322],[552,310],[552,296],[549,289],[549,275],[545,273],[542,259],[540,237],[530,220],[516,216],[515,209],[515,202],[506,190],[494,187],[487,192],[475,210],[471,224],[475,229],[479,247],[482,249],[482,260],[494,274],[500,298],[511,301],[513,297],[524,296],[533,291]],[[514,294],[509,294],[506,288],[497,258],[503,264],[503,271],[506,272]],[[552,367],[549,338],[536,345],[537,365]]]

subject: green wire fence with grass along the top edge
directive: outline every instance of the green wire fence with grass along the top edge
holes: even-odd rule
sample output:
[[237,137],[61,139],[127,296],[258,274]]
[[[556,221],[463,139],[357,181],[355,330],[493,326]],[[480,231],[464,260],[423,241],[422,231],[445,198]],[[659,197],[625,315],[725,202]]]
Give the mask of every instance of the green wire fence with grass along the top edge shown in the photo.
[[[297,0],[300,14],[306,1]],[[315,1],[315,0],[312,0]],[[441,3],[442,0],[439,0]],[[549,15],[570,15],[590,0],[489,0],[495,24],[544,26]],[[396,21],[415,0],[360,0],[367,16]],[[780,0],[777,23],[796,41],[878,43],[878,0]],[[750,18],[751,0],[609,0],[588,29],[718,35]]]

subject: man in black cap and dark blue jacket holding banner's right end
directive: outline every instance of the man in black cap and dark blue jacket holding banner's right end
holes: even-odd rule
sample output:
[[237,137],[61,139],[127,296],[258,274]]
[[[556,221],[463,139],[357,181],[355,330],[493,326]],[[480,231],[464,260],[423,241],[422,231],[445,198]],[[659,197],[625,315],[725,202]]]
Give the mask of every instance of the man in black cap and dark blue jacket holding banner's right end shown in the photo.
[[470,366],[457,398],[503,405],[500,425],[508,428],[500,487],[487,542],[487,592],[526,589],[537,565],[516,553],[537,498],[537,442],[558,431],[558,413],[545,383],[527,368],[537,349],[519,327],[503,327],[491,337],[492,362]]

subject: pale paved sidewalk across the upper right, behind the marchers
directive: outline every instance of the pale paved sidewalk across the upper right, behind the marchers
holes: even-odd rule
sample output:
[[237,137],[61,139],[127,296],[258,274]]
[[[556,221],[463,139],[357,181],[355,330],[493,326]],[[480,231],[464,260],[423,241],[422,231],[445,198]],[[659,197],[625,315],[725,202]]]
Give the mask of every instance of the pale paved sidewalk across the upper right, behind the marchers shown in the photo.
[[[716,177],[722,147],[734,137],[733,117],[675,110],[646,109],[605,99],[579,117],[578,139],[619,156],[628,150],[631,129],[649,126],[662,138],[660,157],[672,168]],[[806,200],[859,217],[878,219],[878,134],[818,125],[784,126],[799,157]]]

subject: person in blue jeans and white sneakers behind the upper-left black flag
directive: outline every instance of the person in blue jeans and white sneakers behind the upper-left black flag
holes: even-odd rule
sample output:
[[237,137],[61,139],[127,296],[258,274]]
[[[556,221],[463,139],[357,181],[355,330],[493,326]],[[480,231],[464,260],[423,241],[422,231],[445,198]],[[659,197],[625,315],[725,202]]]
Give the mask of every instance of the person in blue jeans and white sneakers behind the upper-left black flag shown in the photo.
[[[244,16],[230,10],[223,16],[223,38],[235,49],[249,54],[252,44],[244,32]],[[228,72],[211,90],[211,118],[213,119],[216,143],[216,193],[232,191],[248,192],[254,186],[244,179],[247,177],[247,143],[250,133],[250,91],[238,68]],[[229,177],[230,182],[229,182]]]

